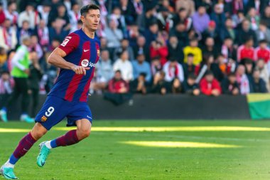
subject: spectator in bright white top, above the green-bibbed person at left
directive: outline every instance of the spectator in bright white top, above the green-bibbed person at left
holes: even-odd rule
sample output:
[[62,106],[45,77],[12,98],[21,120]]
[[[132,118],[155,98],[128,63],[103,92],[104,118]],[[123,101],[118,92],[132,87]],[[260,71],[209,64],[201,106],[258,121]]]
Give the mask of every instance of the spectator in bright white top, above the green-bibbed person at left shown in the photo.
[[34,30],[40,21],[40,17],[38,16],[38,11],[35,10],[35,5],[32,3],[28,3],[26,6],[26,10],[22,11],[18,15],[18,27],[21,28],[23,26],[23,21],[28,21],[29,28]]

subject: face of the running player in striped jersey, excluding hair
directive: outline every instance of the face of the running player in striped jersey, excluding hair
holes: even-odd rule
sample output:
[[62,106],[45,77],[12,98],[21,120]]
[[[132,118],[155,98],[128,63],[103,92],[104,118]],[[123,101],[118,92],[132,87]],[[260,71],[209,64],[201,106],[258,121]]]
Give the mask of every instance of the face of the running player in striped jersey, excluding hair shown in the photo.
[[100,12],[98,9],[92,9],[82,16],[81,20],[90,31],[96,31],[99,26]]

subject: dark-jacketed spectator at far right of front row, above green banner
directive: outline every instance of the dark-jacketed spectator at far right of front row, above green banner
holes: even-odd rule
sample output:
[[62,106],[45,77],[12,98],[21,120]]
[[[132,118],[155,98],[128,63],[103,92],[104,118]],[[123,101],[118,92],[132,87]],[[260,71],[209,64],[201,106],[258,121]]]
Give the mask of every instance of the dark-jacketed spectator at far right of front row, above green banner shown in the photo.
[[259,70],[255,69],[253,72],[253,80],[252,80],[252,92],[255,93],[265,93],[267,92],[266,83],[263,79],[260,78]]

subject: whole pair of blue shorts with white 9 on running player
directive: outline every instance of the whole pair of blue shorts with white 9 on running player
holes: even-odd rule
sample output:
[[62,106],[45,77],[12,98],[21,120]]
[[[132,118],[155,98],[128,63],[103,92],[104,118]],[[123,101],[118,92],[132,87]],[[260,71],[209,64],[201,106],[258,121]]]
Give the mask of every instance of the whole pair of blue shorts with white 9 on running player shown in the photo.
[[47,97],[35,121],[50,130],[65,117],[68,118],[67,126],[76,126],[75,122],[82,119],[87,119],[92,124],[92,112],[87,102],[69,102],[56,96]]

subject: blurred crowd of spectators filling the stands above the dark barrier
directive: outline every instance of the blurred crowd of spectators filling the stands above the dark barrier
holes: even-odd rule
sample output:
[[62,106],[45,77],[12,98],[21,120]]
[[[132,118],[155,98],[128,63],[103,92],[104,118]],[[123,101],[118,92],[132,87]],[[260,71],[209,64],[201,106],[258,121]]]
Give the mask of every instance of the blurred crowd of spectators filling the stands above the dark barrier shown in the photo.
[[58,69],[46,59],[82,27],[80,7],[90,3],[101,9],[91,94],[270,90],[269,0],[1,0],[0,94],[13,91],[23,36],[30,36],[28,93],[36,98],[52,88]]

